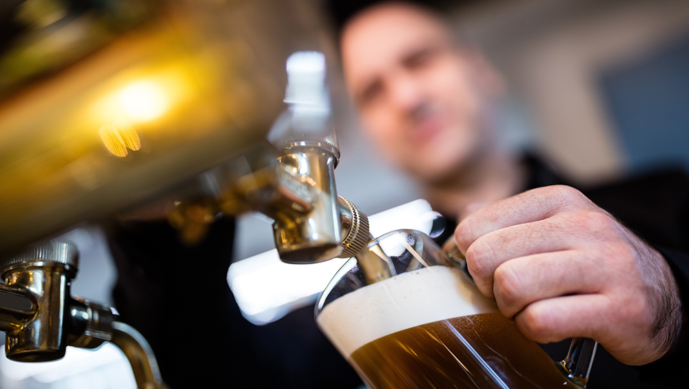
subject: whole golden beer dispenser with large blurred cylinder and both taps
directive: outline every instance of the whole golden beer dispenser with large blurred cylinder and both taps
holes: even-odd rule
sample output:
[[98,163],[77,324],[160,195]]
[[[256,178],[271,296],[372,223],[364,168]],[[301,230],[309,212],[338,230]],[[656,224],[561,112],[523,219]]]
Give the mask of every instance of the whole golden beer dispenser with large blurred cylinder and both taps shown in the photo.
[[[291,263],[351,256],[368,229],[337,196],[318,1],[103,3],[0,9],[23,23],[0,51],[0,330],[17,361],[111,341],[139,388],[163,388],[145,339],[70,295],[78,253],[51,238],[161,202],[187,244],[220,212],[265,213]],[[300,50],[327,55],[287,76]]]

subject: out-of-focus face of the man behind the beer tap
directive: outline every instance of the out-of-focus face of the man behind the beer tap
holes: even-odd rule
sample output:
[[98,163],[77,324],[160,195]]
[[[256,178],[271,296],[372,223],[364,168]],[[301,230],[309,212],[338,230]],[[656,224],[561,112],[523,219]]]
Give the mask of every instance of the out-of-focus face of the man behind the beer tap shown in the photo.
[[442,181],[487,147],[485,63],[429,14],[364,11],[345,27],[342,61],[364,130],[402,169]]

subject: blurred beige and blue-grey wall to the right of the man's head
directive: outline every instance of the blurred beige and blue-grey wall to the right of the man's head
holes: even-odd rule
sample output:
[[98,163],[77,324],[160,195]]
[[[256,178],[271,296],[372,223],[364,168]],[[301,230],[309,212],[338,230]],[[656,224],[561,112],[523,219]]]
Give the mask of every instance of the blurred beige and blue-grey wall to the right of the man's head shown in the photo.
[[673,160],[689,166],[686,1],[493,1],[456,19],[568,174],[591,182]]

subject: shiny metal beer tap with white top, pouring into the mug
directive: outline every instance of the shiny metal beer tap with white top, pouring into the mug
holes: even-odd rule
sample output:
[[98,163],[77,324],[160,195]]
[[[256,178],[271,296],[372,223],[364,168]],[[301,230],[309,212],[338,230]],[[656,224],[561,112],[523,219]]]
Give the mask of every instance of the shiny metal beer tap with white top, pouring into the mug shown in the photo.
[[[337,195],[340,148],[329,122],[325,56],[292,54],[287,74],[289,107],[267,136],[271,144],[209,172],[212,181],[229,183],[216,194],[218,209],[229,214],[254,210],[271,218],[283,262],[352,257],[369,242],[368,220]],[[242,169],[244,174],[232,177]]]

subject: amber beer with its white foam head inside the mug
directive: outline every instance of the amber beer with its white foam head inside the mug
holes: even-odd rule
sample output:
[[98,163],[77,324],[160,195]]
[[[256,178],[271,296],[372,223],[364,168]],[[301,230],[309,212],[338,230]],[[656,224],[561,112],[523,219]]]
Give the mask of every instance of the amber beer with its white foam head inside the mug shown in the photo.
[[334,300],[318,325],[371,389],[576,387],[461,277],[396,275]]

